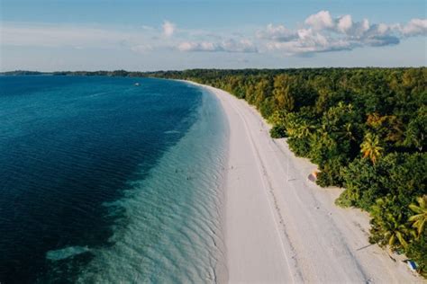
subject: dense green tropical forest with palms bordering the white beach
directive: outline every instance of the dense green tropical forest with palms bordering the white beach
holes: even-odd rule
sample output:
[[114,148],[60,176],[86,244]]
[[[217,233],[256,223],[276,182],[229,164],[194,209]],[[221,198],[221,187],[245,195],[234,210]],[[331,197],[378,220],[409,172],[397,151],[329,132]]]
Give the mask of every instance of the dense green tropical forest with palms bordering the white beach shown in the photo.
[[187,70],[150,73],[209,84],[257,107],[317,183],[367,210],[369,241],[427,276],[427,68]]

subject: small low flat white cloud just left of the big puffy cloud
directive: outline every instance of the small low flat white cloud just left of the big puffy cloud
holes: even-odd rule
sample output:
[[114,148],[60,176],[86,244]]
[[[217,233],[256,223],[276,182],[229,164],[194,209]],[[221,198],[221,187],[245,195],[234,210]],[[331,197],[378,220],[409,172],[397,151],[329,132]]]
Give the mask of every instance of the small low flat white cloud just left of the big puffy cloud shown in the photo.
[[184,41],[178,47],[180,51],[209,51],[209,52],[258,52],[250,40],[213,41]]

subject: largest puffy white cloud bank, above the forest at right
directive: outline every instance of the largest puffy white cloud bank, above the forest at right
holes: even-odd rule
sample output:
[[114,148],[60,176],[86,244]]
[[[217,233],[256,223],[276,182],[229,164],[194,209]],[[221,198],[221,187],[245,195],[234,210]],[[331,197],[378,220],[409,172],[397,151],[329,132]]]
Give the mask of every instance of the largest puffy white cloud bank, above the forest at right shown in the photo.
[[310,15],[305,24],[295,31],[268,24],[258,37],[268,50],[292,55],[395,45],[404,37],[427,34],[427,20],[413,19],[405,25],[370,24],[368,19],[353,22],[350,14],[333,19],[328,11]]

